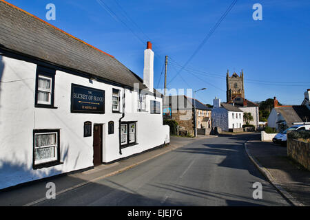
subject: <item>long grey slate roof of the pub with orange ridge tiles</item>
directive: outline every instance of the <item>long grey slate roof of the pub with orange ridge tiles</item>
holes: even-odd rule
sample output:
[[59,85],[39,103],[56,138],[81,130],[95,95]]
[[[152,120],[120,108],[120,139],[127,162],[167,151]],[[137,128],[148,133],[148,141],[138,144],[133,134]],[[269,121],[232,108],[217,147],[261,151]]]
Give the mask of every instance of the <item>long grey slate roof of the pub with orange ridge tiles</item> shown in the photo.
[[129,87],[139,83],[140,89],[145,89],[143,80],[110,54],[2,0],[0,48],[92,74],[112,83]]

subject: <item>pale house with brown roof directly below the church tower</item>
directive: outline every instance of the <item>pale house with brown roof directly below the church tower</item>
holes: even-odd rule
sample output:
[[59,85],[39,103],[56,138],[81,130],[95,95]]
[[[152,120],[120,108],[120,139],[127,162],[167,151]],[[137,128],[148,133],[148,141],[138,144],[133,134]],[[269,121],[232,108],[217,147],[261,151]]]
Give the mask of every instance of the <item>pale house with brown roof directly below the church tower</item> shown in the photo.
[[258,104],[251,102],[250,100],[247,100],[246,98],[242,97],[235,97],[233,98],[229,104],[234,103],[235,107],[238,107],[243,112],[251,113],[251,116],[253,116],[253,120],[249,122],[249,124],[252,124],[255,126],[255,129],[258,129],[260,127],[259,120],[260,120],[260,113],[258,109]]

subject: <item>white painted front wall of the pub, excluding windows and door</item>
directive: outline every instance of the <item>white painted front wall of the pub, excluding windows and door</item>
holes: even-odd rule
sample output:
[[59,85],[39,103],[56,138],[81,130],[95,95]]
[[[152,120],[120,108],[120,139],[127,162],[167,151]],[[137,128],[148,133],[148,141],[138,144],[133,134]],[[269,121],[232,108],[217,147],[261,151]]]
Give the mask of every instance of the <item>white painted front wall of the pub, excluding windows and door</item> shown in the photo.
[[[37,65],[4,56],[0,56],[1,59],[4,67],[0,73],[0,188],[93,166],[93,136],[83,137],[85,121],[92,122],[92,129],[96,123],[103,124],[103,162],[169,142],[169,126],[163,126],[162,112],[149,113],[149,100],[156,99],[162,105],[161,98],[147,96],[148,112],[137,112],[134,107],[136,92],[125,89],[125,118],[122,121],[138,121],[138,144],[123,148],[120,155],[118,119],[121,113],[112,113],[112,89],[120,89],[122,93],[123,88],[94,80],[90,83],[87,78],[56,71],[54,106],[58,109],[34,108]],[[105,90],[105,114],[71,113],[71,83]],[[111,120],[114,121],[114,134],[108,135],[107,122]],[[32,169],[34,129],[60,129],[63,164]]]

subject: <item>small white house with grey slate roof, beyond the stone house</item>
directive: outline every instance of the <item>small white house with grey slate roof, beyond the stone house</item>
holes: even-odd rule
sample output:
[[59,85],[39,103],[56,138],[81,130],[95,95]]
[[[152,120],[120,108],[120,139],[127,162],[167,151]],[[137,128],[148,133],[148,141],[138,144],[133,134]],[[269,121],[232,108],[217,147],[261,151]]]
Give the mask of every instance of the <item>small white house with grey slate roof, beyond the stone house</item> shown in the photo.
[[219,98],[213,100],[212,127],[215,131],[243,131],[243,111],[234,103],[221,103]]

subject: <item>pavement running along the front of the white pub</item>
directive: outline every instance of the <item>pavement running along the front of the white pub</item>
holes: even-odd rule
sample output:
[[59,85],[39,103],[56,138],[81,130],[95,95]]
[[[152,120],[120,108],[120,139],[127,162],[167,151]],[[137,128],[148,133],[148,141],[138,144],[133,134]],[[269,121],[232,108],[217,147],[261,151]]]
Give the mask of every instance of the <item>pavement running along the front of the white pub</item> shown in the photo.
[[48,182],[56,185],[56,196],[61,195],[70,190],[85,186],[94,181],[116,175],[125,170],[133,168],[149,159],[161,156],[176,148],[191,144],[198,140],[204,140],[216,135],[198,135],[196,138],[190,137],[170,137],[170,144],[161,148],[154,148],[138,155],[127,157],[126,159],[113,162],[112,164],[102,164],[94,168],[84,171],[76,171],[74,173],[57,175],[32,181],[20,186],[13,186],[0,190],[0,206],[34,206],[37,203],[45,201],[45,193],[48,190],[45,186]]

